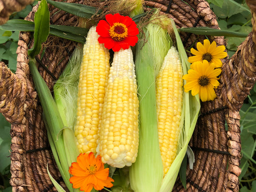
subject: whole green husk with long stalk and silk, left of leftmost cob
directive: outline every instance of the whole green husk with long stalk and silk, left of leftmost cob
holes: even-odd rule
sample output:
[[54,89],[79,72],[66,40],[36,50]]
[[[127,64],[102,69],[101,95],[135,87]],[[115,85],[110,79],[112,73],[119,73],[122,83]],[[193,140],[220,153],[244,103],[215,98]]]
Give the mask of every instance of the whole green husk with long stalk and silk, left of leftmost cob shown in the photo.
[[[69,181],[71,175],[68,170],[72,162],[76,162],[76,157],[79,155],[73,127],[76,120],[77,84],[82,56],[83,50],[76,48],[67,67],[54,85],[54,99],[37,71],[35,61],[31,60],[29,63],[44,111],[43,118],[48,130],[53,156],[66,186],[69,191],[73,192],[79,190],[73,189]],[[53,178],[50,177],[50,179],[53,180],[53,183],[56,183]],[[58,191],[62,190],[58,184],[55,186]]]

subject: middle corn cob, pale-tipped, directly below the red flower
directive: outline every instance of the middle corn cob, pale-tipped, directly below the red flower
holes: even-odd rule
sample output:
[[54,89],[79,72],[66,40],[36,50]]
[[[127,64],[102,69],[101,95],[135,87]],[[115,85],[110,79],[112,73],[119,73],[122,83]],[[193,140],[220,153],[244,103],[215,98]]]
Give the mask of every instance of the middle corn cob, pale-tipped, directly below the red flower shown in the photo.
[[99,153],[112,167],[131,166],[139,144],[139,101],[131,48],[114,53],[104,98]]

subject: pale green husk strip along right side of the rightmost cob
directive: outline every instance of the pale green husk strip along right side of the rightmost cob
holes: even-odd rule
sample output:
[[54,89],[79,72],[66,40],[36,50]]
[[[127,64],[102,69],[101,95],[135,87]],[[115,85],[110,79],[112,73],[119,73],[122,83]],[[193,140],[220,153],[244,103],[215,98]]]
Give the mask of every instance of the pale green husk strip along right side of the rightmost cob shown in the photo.
[[[183,69],[183,75],[184,75],[190,69],[190,63],[188,62],[186,51],[183,47],[182,40],[179,36],[179,32],[173,20],[171,20],[171,24],[176,36],[177,48],[182,61],[182,69]],[[195,129],[195,124],[197,121],[199,110],[200,110],[200,101],[199,101],[198,95],[192,96],[191,93],[184,92],[181,123],[180,123],[181,133],[179,137],[177,156],[172,162],[168,173],[164,177],[159,192],[171,192],[174,186],[176,178],[179,174],[179,170],[180,170],[183,158],[186,155],[189,141]]]

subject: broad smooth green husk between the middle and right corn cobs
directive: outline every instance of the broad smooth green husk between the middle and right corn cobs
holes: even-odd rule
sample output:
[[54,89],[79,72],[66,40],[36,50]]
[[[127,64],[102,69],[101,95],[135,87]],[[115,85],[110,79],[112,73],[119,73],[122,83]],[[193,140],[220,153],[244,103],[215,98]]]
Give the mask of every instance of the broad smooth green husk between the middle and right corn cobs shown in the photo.
[[[158,142],[155,80],[171,47],[171,38],[159,24],[147,24],[143,31],[145,36],[140,36],[135,58],[140,102],[139,149],[129,172],[134,192],[158,192],[163,178],[163,165]],[[143,37],[146,37],[146,41]]]

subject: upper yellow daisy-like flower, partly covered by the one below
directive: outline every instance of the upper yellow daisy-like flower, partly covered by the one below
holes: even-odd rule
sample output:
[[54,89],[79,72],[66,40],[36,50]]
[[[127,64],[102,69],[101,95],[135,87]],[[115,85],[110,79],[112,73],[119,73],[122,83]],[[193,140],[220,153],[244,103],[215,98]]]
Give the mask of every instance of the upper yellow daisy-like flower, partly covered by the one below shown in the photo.
[[188,58],[188,61],[190,63],[193,63],[195,61],[203,61],[207,60],[210,64],[214,63],[215,68],[219,68],[222,66],[222,62],[220,59],[223,59],[227,57],[227,53],[224,52],[225,46],[221,45],[216,47],[216,42],[213,41],[210,44],[210,41],[208,39],[204,40],[204,45],[200,42],[196,44],[197,50],[194,48],[191,48],[190,51],[193,55]]

